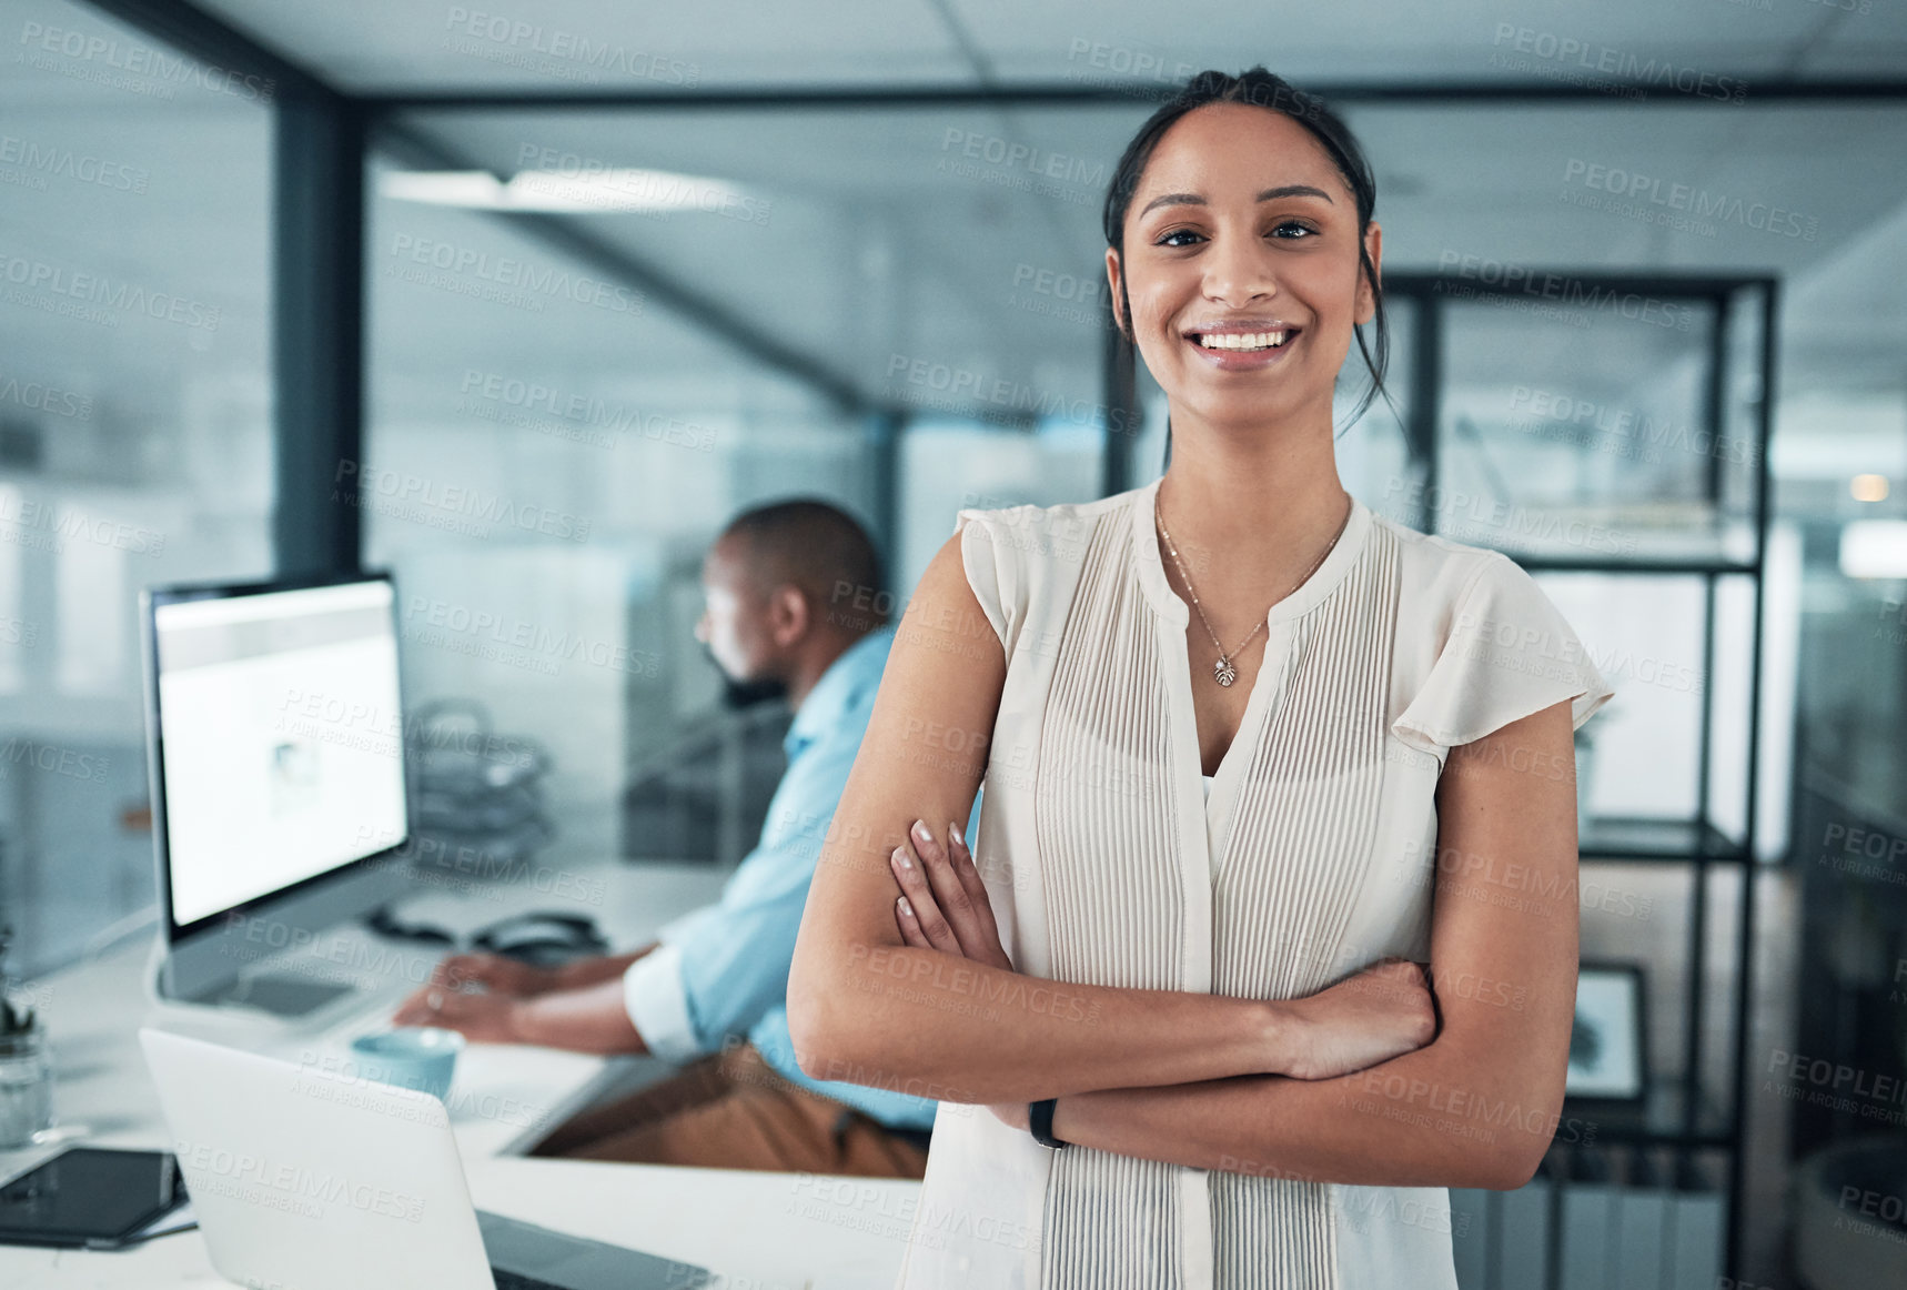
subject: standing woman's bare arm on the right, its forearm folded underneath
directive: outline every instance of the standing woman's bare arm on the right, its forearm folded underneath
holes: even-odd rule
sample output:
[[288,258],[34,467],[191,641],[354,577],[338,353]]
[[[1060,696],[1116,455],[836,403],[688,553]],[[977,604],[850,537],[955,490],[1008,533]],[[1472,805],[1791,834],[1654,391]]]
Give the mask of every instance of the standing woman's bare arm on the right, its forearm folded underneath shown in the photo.
[[[1062,1095],[1072,1143],[1333,1183],[1520,1187],[1562,1118],[1575,1015],[1569,704],[1455,748],[1438,784],[1428,1046],[1333,1080],[1234,1078]],[[1592,1126],[1590,1126],[1592,1132]]]

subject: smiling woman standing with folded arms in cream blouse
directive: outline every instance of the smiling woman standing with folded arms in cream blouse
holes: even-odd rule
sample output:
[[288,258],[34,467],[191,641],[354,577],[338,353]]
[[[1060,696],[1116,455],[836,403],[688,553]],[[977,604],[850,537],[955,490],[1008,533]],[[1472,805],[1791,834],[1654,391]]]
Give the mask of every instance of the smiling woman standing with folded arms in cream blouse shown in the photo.
[[1556,1132],[1613,691],[1339,483],[1373,206],[1316,99],[1196,76],[1106,198],[1171,468],[959,511],[908,605],[789,977],[807,1072],[948,1103],[908,1288],[1453,1290],[1446,1189]]

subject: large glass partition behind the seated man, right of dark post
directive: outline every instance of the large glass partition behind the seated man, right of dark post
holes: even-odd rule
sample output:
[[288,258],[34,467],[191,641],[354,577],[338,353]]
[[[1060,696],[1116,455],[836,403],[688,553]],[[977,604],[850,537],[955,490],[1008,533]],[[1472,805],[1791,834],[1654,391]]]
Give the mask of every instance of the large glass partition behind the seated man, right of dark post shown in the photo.
[[1100,494],[1095,229],[1129,118],[406,113],[379,135],[366,559],[400,578],[410,693],[481,695],[549,748],[559,845],[751,843],[786,714],[728,712],[692,639],[740,510],[845,508],[898,607],[955,510]]

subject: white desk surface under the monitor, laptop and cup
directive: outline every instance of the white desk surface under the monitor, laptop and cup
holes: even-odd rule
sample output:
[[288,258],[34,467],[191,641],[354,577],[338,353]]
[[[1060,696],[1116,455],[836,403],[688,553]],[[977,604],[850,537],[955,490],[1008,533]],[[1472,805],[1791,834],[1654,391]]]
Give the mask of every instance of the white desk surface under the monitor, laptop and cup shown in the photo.
[[[585,912],[612,939],[635,948],[654,931],[715,897],[723,874],[698,864],[612,863],[568,866],[601,880],[601,905],[545,891],[446,882],[408,901],[404,922],[465,931],[519,910]],[[582,884],[589,887],[589,884]],[[84,1124],[72,1141],[101,1147],[166,1147],[158,1099],[139,1055],[137,1029],[158,1025],[233,1048],[278,1053],[341,1053],[349,1038],[381,1025],[412,981],[442,956],[439,947],[376,941],[339,929],[307,948],[303,962],[328,975],[341,968],[381,979],[347,1015],[288,1027],[256,1015],[204,1015],[154,1006],[143,977],[149,939],[40,983],[51,1034],[61,1124]],[[292,960],[296,968],[299,960]],[[625,1244],[662,1258],[700,1263],[725,1290],[891,1290],[919,1183],[830,1179],[749,1170],[683,1170],[645,1164],[589,1164],[523,1158],[519,1153],[587,1105],[610,1084],[666,1074],[650,1059],[585,1057],[536,1048],[473,1044],[458,1059],[448,1105],[458,1151],[479,1208],[543,1227]],[[0,1177],[13,1177],[61,1147],[0,1153]],[[65,1290],[80,1286],[223,1286],[206,1259],[202,1237],[162,1237],[122,1254],[0,1246],[0,1286]]]

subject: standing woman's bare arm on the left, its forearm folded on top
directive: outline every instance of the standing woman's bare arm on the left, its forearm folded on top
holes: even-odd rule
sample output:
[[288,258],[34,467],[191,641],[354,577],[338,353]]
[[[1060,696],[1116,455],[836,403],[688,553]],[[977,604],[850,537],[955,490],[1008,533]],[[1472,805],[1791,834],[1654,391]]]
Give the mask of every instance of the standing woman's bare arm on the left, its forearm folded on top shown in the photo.
[[917,819],[940,838],[967,819],[1005,676],[955,534],[900,620],[814,870],[788,977],[801,1069],[967,1103],[1283,1069],[1276,1004],[1047,983],[904,943],[889,857]]

